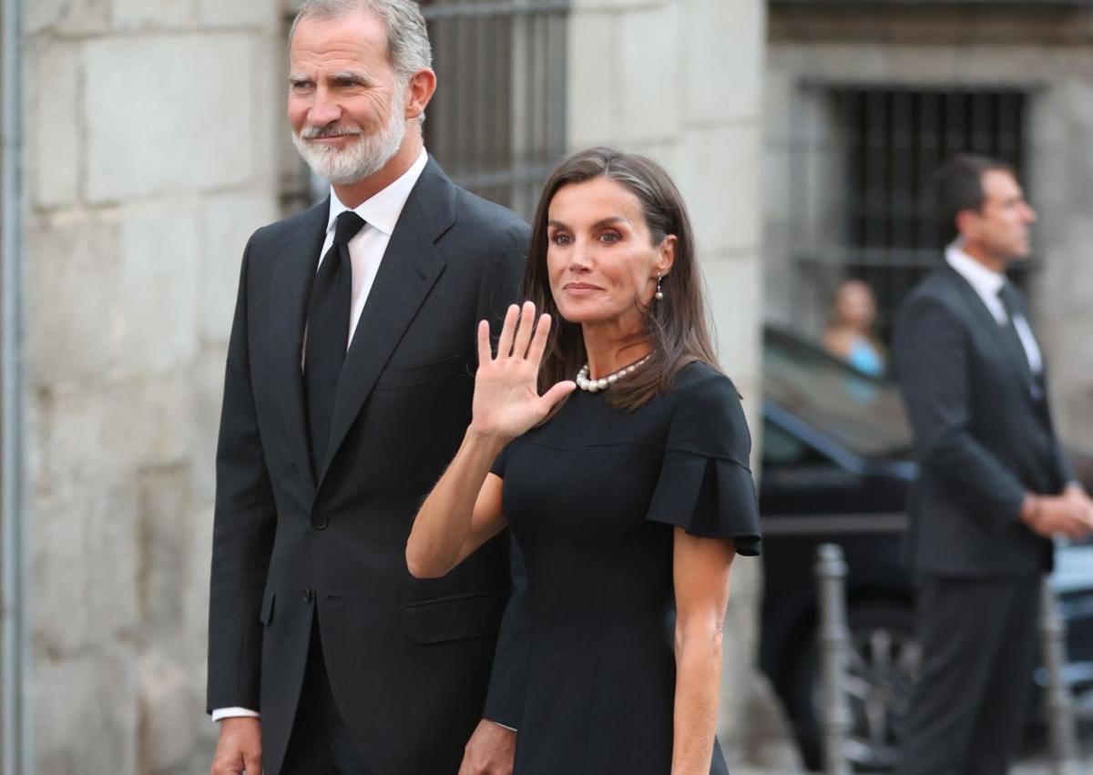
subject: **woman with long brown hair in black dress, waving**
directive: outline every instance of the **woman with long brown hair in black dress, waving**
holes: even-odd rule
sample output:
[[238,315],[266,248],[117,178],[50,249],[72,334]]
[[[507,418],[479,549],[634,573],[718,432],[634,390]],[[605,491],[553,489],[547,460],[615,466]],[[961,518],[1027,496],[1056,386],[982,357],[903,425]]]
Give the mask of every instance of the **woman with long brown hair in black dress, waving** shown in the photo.
[[444,575],[512,526],[530,614],[516,775],[726,773],[729,568],[759,552],[751,443],[663,169],[610,149],[564,162],[525,292],[496,356],[479,325],[473,420],[410,571]]

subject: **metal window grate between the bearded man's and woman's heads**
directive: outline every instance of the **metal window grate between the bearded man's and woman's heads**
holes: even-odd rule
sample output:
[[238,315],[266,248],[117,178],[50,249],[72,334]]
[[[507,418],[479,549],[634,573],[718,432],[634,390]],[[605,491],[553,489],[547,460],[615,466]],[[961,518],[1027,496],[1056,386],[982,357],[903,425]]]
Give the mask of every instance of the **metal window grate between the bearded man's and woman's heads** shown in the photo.
[[426,0],[439,87],[425,143],[460,185],[532,214],[565,153],[568,0]]

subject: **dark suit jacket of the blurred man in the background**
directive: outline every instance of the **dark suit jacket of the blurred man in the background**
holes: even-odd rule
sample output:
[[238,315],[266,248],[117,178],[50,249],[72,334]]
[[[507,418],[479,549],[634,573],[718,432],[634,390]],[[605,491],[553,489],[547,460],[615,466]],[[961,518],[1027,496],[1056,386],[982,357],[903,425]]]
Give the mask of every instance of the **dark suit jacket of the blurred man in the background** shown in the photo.
[[1021,503],[1058,493],[1073,472],[1008,336],[948,265],[901,306],[893,351],[920,465],[906,543],[916,575],[1050,568],[1051,543],[1021,522]]

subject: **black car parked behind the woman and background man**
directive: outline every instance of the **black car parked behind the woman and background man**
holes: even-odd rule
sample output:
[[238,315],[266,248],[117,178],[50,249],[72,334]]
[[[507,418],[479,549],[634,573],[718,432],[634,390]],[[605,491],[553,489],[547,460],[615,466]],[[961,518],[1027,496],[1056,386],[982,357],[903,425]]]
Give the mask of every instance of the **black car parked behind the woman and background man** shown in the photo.
[[[816,548],[843,548],[853,650],[854,717],[846,751],[857,770],[895,764],[895,739],[919,651],[913,590],[901,561],[916,474],[897,388],[786,331],[768,328],[763,356],[765,596],[760,659],[810,764],[819,761]],[[1093,488],[1088,458],[1074,459]],[[1060,547],[1053,583],[1067,622],[1066,678],[1093,695],[1093,542]],[[1044,684],[1043,670],[1031,680]],[[1036,716],[1037,714],[1033,714]]]

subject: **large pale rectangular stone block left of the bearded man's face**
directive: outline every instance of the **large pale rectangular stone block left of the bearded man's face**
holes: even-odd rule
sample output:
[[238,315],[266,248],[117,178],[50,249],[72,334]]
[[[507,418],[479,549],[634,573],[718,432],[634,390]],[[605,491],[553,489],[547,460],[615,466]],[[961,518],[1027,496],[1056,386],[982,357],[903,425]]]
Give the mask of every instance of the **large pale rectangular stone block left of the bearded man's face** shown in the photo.
[[[87,197],[108,202],[251,178],[256,36],[86,44]],[[265,106],[263,106],[265,107]]]

